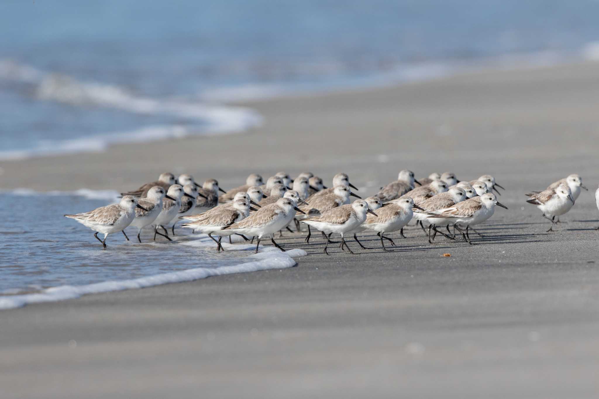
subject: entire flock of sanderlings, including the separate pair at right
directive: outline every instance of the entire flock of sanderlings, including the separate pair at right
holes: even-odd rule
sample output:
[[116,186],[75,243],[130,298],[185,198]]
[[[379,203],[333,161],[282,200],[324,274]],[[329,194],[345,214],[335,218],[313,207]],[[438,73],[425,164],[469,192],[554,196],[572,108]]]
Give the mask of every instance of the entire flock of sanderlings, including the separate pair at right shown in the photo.
[[[174,234],[175,225],[183,219],[186,223],[181,227],[208,234],[216,242],[219,252],[224,251],[220,243],[222,237],[229,236],[230,242],[232,234],[246,240],[252,237],[252,242],[256,238],[256,252],[263,237],[270,237],[273,245],[285,251],[275,242],[274,234],[283,229],[293,232],[289,227],[291,223],[295,223],[297,232],[301,232],[301,223],[304,223],[307,225],[306,242],[310,241],[310,227],[313,227],[326,239],[326,254],[334,233],[341,236],[340,248],[344,250],[345,247],[353,254],[344,239],[348,234],[353,234],[362,248],[370,249],[359,242],[356,234],[365,230],[376,232],[382,248],[388,251],[383,240],[393,246],[395,243],[385,234],[399,231],[403,236],[403,228],[412,219],[428,235],[430,243],[437,233],[455,239],[457,230],[472,244],[469,233],[470,230],[476,232],[473,226],[488,220],[496,205],[507,209],[492,193],[495,190],[499,194],[498,188],[503,187],[491,175],[467,182],[459,181],[454,173],[432,173],[418,181],[412,171],[401,170],[398,179],[381,187],[376,196],[362,200],[352,193],[352,188],[358,190],[349,182],[346,173],[335,175],[331,188],[325,187],[322,179],[313,173],[301,173],[291,179],[288,173],[279,172],[268,178],[266,184],[263,184],[262,176],[252,173],[246,184],[229,191],[220,188],[215,179],[199,185],[188,174],[175,178],[173,173],[162,173],[158,181],[122,193],[117,204],[65,216],[94,230],[94,236],[104,249],[106,238],[112,233],[123,232],[129,240],[124,231],[128,226],[137,227],[140,242],[141,230],[148,226],[154,229],[154,240],[157,234],[171,240],[167,227],[172,224]],[[572,208],[580,188],[587,190],[580,176],[570,175],[544,191],[527,194],[530,197],[527,202],[537,205],[543,217],[550,220],[549,232],[557,223],[555,218]],[[219,191],[223,193],[220,196]],[[358,197],[358,200],[350,203],[350,196]],[[595,197],[599,208],[599,189]],[[453,234],[450,226],[454,228]],[[447,233],[438,230],[442,227]],[[104,234],[104,240],[98,233]]]

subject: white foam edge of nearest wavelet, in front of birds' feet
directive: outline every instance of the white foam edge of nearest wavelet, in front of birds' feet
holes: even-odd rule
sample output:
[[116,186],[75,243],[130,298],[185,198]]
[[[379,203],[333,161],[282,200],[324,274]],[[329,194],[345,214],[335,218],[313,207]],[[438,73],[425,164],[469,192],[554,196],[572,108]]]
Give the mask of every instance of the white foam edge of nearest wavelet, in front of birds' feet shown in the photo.
[[[207,246],[208,244],[198,242],[196,245]],[[253,248],[253,245],[235,245],[235,247],[235,249],[238,250],[247,250],[249,247]],[[33,303],[76,299],[88,294],[110,293],[114,291],[155,287],[156,285],[171,284],[176,282],[189,282],[211,276],[258,272],[259,270],[287,269],[289,267],[294,267],[297,264],[297,262],[294,260],[294,257],[301,257],[305,255],[307,255],[307,253],[303,249],[299,248],[282,252],[277,248],[267,246],[262,248],[258,254],[249,255],[247,258],[250,258],[250,261],[230,266],[196,267],[195,269],[161,273],[158,275],[140,277],[136,279],[104,281],[87,285],[62,285],[60,287],[47,288],[41,293],[2,296],[0,297],[0,310],[15,309],[17,307],[22,307]]]

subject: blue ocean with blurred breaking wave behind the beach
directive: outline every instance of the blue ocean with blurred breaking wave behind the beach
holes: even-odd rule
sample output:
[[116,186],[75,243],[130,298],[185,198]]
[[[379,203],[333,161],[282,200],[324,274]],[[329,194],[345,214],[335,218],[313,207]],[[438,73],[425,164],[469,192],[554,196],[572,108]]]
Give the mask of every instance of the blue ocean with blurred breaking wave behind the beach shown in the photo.
[[283,93],[599,56],[599,2],[0,2],[0,159],[242,132]]

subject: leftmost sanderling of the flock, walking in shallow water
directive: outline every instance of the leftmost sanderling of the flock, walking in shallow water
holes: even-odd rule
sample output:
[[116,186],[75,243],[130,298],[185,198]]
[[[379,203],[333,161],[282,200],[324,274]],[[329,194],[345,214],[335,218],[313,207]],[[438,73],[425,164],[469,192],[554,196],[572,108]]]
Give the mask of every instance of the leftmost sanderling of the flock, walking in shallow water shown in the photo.
[[[119,203],[101,206],[82,214],[65,215],[65,217],[74,219],[83,226],[94,230],[96,233],[93,236],[102,243],[102,248],[106,249],[106,237],[117,232],[125,234],[123,230],[134,220],[136,207],[147,211],[137,203],[137,198],[134,196],[123,196]],[[99,239],[98,233],[104,234],[104,241]],[[125,238],[129,240],[127,234],[125,234]]]

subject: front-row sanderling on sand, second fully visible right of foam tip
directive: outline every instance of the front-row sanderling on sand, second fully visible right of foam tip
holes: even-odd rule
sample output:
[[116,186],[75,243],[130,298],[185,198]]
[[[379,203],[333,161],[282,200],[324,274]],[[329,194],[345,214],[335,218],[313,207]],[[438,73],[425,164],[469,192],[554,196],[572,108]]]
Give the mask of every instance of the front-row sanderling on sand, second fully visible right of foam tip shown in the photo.
[[424,209],[414,203],[411,197],[400,197],[394,202],[386,203],[385,208],[377,211],[377,215],[368,215],[362,226],[376,232],[377,236],[380,237],[380,244],[383,246],[383,251],[389,251],[385,248],[383,238],[389,240],[393,246],[395,246],[395,242],[391,238],[385,237],[385,233],[397,232],[397,230],[406,227],[408,222],[412,220],[412,208],[424,211]]

